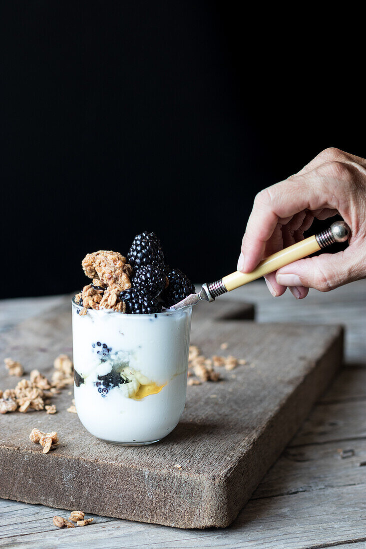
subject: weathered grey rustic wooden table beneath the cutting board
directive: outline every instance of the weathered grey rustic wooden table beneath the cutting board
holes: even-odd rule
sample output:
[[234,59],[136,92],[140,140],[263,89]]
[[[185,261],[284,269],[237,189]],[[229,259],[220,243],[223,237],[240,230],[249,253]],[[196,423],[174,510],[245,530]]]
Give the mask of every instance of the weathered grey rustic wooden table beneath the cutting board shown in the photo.
[[[228,297],[256,304],[258,322],[346,327],[345,365],[302,426],[301,444],[289,444],[235,522],[200,531],[96,517],[92,526],[58,530],[52,517],[59,509],[0,500],[0,547],[366,547],[366,281],[300,302],[289,292],[272,298],[262,282]],[[59,300],[3,300],[0,329]]]

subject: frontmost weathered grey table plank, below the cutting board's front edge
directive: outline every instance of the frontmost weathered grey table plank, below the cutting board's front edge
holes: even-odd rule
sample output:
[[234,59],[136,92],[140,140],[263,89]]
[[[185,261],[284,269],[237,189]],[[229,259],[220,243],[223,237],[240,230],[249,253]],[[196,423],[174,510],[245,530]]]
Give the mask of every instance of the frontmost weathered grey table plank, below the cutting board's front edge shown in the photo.
[[225,530],[177,530],[124,520],[99,522],[97,517],[96,523],[87,528],[60,531],[50,526],[54,510],[49,509],[48,518],[27,522],[24,530],[22,525],[22,535],[14,530],[14,535],[0,539],[3,542],[0,546],[305,549],[346,541],[361,543],[366,541],[365,490],[366,484],[362,484],[319,490],[316,497],[314,492],[300,492],[251,500],[236,522]]

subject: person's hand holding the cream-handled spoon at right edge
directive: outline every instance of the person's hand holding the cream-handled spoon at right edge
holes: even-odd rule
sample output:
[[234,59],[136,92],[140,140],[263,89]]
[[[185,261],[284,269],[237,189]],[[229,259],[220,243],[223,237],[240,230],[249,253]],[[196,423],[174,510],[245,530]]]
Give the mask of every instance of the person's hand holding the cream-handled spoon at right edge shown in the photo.
[[257,194],[243,236],[237,270],[251,272],[264,257],[303,240],[316,217],[340,214],[350,245],[337,254],[295,261],[267,275],[273,296],[287,286],[297,299],[309,288],[328,292],[366,277],[366,160],[339,149],[323,150],[300,172]]

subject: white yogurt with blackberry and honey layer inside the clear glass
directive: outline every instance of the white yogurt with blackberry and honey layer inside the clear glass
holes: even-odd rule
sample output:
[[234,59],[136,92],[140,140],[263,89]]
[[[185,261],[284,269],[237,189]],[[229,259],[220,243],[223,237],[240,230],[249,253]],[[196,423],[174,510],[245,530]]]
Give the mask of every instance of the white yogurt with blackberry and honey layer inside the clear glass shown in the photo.
[[184,410],[192,307],[153,315],[88,309],[73,301],[75,405],[100,439],[149,444]]

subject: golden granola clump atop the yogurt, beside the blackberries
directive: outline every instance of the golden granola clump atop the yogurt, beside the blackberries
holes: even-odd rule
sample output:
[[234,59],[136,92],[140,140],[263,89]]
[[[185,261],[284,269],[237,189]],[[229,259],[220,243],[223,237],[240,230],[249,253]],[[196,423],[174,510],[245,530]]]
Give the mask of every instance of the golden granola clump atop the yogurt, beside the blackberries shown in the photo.
[[80,315],[86,315],[87,309],[125,312],[126,305],[119,299],[119,294],[131,288],[132,267],[126,263],[126,258],[118,251],[99,250],[87,254],[81,265],[93,282],[75,295],[75,301],[83,306]]

